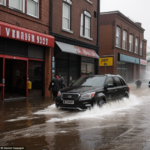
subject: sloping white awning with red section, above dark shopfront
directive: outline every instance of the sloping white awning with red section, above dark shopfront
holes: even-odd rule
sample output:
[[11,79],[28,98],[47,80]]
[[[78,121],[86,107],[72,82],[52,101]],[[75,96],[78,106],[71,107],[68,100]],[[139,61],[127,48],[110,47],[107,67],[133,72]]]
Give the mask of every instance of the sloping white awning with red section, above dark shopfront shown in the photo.
[[56,41],[56,44],[58,45],[58,47],[61,49],[62,52],[99,59],[99,56],[94,50],[71,45],[71,44],[66,44],[58,41]]

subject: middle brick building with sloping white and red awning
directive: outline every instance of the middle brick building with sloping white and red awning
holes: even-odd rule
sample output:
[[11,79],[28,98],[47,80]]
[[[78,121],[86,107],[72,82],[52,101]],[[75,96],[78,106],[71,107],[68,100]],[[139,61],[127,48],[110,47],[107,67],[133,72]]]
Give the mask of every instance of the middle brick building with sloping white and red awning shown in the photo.
[[52,75],[62,75],[66,85],[98,73],[98,16],[99,0],[51,0]]

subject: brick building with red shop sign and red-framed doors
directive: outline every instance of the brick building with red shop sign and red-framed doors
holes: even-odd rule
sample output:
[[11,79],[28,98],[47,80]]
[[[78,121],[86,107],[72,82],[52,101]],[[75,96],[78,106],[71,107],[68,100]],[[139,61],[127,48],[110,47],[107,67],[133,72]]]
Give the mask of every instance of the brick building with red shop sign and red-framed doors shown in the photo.
[[49,8],[48,0],[0,1],[0,98],[50,96]]

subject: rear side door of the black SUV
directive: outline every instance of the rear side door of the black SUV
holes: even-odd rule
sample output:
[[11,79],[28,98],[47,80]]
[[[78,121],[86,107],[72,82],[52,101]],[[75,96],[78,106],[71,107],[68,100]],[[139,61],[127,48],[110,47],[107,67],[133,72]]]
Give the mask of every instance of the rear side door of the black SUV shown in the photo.
[[122,83],[119,79],[119,77],[114,77],[115,80],[115,97],[117,100],[121,99],[124,95],[124,90],[123,90],[123,86]]

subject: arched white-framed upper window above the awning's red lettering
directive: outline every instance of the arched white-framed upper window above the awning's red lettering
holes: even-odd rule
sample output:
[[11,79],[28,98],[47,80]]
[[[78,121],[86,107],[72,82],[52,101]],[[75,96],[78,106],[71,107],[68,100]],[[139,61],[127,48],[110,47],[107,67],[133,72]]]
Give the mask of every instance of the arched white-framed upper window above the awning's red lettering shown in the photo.
[[81,14],[80,35],[91,37],[91,14],[88,11]]

